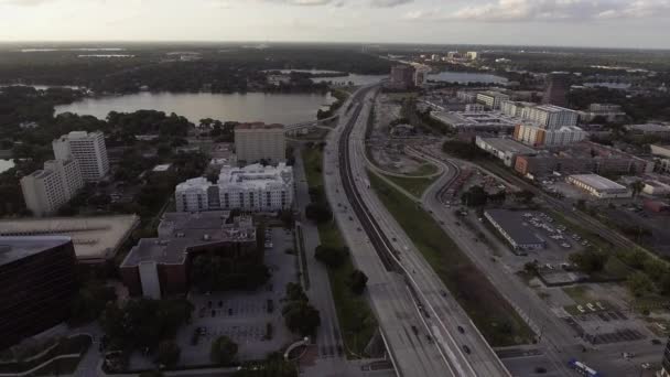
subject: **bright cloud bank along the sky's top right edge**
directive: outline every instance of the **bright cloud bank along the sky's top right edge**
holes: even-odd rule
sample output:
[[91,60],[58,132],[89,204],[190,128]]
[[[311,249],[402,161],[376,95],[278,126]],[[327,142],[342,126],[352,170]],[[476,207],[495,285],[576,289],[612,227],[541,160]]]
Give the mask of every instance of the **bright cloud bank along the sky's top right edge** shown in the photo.
[[486,0],[454,12],[413,11],[415,21],[563,21],[670,17],[670,0]]

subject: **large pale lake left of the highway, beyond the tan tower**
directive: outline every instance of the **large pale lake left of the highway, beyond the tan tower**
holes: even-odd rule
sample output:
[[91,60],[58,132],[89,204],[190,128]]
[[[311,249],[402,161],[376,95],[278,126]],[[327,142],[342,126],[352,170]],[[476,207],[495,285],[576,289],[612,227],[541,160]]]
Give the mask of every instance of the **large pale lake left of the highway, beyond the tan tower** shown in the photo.
[[123,96],[85,98],[56,106],[56,114],[75,112],[104,119],[109,111],[142,109],[175,112],[198,123],[203,118],[221,121],[262,121],[291,125],[316,119],[316,111],[335,101],[331,94],[212,94],[139,93]]

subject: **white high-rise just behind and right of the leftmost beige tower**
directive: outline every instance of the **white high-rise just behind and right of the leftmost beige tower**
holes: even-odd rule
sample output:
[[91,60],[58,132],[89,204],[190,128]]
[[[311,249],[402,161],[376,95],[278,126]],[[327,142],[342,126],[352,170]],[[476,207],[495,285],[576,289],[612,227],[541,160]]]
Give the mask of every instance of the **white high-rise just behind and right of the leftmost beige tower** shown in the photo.
[[109,172],[109,160],[102,132],[73,131],[52,142],[56,160],[76,160],[86,182],[102,179]]

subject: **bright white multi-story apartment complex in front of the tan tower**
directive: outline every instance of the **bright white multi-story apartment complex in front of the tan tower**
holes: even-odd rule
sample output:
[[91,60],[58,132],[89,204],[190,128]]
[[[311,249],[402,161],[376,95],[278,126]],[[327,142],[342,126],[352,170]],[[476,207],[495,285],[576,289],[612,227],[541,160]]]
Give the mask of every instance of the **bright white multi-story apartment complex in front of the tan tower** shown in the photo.
[[175,188],[179,212],[241,209],[277,212],[293,204],[293,168],[252,164],[245,168],[221,168],[218,183],[196,177]]

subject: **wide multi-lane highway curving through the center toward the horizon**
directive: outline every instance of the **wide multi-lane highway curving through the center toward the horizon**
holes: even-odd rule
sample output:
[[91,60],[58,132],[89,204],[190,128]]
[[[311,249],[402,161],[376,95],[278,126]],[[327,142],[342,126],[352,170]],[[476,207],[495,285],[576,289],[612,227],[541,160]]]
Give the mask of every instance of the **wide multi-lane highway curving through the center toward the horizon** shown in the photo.
[[[338,224],[345,238],[354,238],[354,245],[349,244],[354,260],[358,268],[370,276],[370,299],[398,374],[509,376],[430,265],[369,190],[365,128],[372,96],[374,91],[365,88],[353,97],[350,117],[343,117],[344,127],[329,136],[324,171],[328,197],[336,208]],[[347,225],[352,224],[358,225],[353,236],[347,229],[350,228]],[[356,237],[356,231],[363,234],[364,238],[357,245],[355,238],[361,237]],[[366,247],[361,248],[363,245]],[[383,290],[378,291],[380,287]],[[408,303],[414,306],[413,319],[399,316],[396,312],[398,306],[406,306],[407,312]],[[414,344],[407,344],[407,338],[398,338],[399,327],[404,330],[410,341],[423,340],[425,345],[417,348]],[[417,334],[418,327],[423,335]],[[430,363],[423,364],[422,368],[430,367],[434,371],[419,373],[411,366],[407,367],[408,364],[415,365],[408,362],[408,357],[428,357]]]

